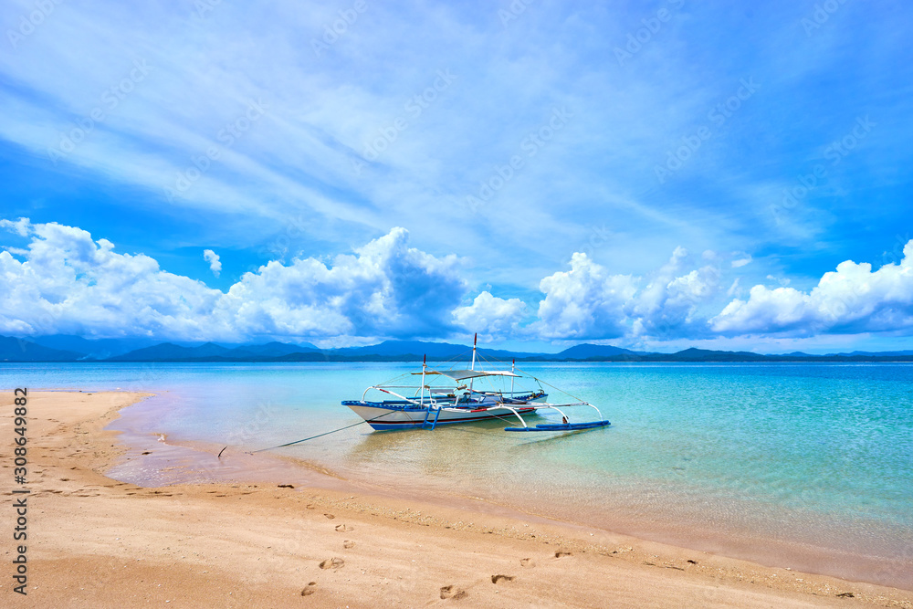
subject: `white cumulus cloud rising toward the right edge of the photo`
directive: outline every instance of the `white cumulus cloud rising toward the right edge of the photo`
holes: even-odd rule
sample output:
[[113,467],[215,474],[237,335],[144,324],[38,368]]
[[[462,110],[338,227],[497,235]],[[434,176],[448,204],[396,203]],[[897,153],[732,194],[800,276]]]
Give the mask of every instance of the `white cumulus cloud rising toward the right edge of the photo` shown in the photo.
[[723,334],[903,331],[913,328],[913,240],[899,264],[876,271],[846,260],[824,273],[811,292],[758,285],[749,299],[734,299],[710,320]]

